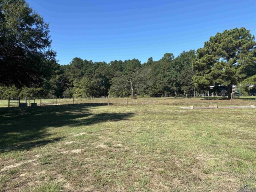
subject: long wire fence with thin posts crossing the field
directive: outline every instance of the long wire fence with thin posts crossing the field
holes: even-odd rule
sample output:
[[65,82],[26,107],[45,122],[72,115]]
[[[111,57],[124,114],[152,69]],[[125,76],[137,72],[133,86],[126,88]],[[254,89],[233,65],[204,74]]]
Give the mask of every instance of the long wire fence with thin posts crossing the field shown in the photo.
[[[11,98],[11,100],[14,98]],[[169,106],[247,106],[256,105],[256,94],[249,96],[238,96],[236,94],[198,94],[198,95],[144,95],[136,96],[136,99],[131,96],[114,97],[114,96],[88,96],[86,98],[61,98],[61,97],[41,97],[41,98],[20,98],[27,106],[53,106],[67,104],[86,104],[88,106],[97,105],[169,105]],[[15,102],[19,106],[19,102]],[[8,100],[0,100],[0,107],[8,107]]]

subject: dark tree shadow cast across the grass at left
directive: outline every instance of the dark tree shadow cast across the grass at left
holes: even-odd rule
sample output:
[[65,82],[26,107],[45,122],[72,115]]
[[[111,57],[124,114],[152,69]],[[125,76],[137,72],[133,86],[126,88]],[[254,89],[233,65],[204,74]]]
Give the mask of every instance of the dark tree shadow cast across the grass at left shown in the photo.
[[93,109],[94,107],[84,104],[1,108],[0,152],[28,150],[60,140],[61,137],[47,131],[48,127],[86,126],[106,121],[125,120],[134,115],[133,113],[93,114]]

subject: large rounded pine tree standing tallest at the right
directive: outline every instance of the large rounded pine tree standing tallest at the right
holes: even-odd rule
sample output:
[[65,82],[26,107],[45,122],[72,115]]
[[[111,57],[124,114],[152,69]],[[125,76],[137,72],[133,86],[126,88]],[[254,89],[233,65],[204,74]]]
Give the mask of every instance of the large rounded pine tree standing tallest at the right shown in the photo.
[[232,84],[256,73],[256,42],[245,28],[217,33],[197,50],[193,61],[194,84],[202,90],[224,84],[231,92]]

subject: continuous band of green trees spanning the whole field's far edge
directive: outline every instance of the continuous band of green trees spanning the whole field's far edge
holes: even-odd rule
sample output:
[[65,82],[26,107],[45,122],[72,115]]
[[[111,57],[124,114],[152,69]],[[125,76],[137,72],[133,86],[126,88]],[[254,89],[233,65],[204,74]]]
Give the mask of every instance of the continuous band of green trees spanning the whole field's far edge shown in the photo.
[[[0,98],[194,94],[211,85],[255,83],[256,42],[249,30],[217,33],[197,51],[160,60],[74,58],[60,65],[49,25],[24,0],[0,0]],[[230,91],[230,90],[229,90]]]

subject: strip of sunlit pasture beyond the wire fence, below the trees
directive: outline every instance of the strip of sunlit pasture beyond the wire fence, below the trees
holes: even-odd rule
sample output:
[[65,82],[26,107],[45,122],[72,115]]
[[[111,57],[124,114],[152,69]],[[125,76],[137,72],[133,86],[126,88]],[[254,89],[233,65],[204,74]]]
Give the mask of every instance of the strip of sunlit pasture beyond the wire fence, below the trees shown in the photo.
[[[24,102],[22,100],[21,102]],[[34,100],[27,100],[28,106],[30,103],[34,102]],[[105,104],[108,105],[108,98],[52,98],[52,99],[36,99],[35,102],[38,106],[46,106],[46,105],[63,105],[63,104]],[[240,98],[235,98],[233,100],[223,99],[222,97],[158,97],[158,98],[112,98],[110,97],[110,105],[170,105],[170,106],[208,106],[208,105],[220,105],[220,106],[248,106],[248,105],[256,105],[256,96],[241,96]],[[0,100],[0,107],[8,107],[8,100]]]

